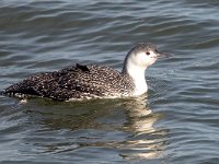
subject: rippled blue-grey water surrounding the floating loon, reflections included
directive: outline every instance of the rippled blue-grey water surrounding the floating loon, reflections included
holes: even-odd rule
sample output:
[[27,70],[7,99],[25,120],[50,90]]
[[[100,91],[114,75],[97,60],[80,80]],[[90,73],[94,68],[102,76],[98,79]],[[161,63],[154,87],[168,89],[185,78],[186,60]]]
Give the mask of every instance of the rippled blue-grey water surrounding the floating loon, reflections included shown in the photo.
[[0,96],[0,163],[218,163],[219,2],[0,2],[0,90],[73,62],[120,70],[148,40],[173,54],[148,97],[58,103]]

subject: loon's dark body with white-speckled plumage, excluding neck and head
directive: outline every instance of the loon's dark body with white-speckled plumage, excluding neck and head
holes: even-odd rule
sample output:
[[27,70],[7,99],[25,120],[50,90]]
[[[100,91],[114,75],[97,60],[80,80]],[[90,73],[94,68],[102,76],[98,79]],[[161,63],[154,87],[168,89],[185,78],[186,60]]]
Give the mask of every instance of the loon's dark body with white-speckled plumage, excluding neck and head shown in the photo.
[[55,72],[39,73],[9,86],[8,95],[36,95],[57,101],[127,96],[134,90],[128,74],[106,66],[76,65]]

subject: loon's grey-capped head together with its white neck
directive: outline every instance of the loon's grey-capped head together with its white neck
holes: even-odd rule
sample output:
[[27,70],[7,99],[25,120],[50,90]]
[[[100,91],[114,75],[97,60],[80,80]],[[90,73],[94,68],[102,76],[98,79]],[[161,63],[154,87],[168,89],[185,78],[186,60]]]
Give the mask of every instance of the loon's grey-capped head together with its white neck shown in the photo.
[[162,54],[151,43],[139,43],[127,54],[124,62],[123,73],[130,75],[135,83],[134,95],[140,95],[148,91],[145,71],[153,65]]

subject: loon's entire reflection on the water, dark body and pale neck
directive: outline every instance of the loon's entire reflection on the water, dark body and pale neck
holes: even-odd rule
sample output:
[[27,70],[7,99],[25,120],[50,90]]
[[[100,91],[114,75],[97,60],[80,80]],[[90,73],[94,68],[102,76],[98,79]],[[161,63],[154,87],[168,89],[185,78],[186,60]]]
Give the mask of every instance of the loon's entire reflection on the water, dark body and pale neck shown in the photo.
[[[158,159],[162,156],[165,130],[154,127],[161,115],[153,114],[146,99],[41,102],[39,109],[27,110],[41,125],[31,138],[48,139],[50,134],[56,138],[34,143],[45,150],[43,153],[76,152],[95,147],[113,149],[124,160]],[[30,104],[35,106],[35,103],[39,104],[37,101]]]

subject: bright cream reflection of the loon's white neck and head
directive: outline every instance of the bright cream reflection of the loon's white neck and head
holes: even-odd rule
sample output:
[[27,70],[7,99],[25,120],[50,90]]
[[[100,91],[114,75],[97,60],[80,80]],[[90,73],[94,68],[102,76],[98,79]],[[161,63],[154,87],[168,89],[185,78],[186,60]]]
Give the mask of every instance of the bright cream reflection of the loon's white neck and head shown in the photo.
[[120,147],[122,155],[126,159],[162,157],[165,130],[154,127],[161,114],[153,114],[143,97],[129,101],[125,110],[128,121],[124,129],[132,134]]

